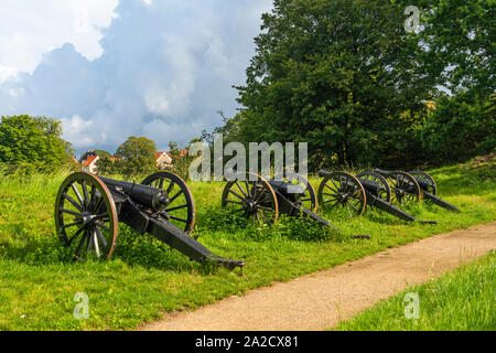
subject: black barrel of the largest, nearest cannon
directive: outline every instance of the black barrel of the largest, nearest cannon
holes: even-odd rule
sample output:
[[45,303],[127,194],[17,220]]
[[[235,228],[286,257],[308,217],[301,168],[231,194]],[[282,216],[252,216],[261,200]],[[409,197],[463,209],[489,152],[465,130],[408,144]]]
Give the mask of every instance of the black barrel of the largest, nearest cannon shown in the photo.
[[148,185],[131,183],[128,181],[115,180],[104,176],[98,176],[108,188],[120,191],[130,196],[140,205],[158,210],[161,205],[161,200],[166,197],[160,189]]

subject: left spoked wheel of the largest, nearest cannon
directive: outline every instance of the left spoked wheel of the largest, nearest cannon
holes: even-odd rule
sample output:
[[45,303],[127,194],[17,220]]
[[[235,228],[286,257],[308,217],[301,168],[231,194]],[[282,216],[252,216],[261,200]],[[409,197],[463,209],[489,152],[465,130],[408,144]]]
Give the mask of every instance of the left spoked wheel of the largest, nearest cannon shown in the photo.
[[98,176],[76,172],[67,176],[55,200],[55,226],[75,259],[94,253],[108,259],[117,242],[118,218],[111,193]]

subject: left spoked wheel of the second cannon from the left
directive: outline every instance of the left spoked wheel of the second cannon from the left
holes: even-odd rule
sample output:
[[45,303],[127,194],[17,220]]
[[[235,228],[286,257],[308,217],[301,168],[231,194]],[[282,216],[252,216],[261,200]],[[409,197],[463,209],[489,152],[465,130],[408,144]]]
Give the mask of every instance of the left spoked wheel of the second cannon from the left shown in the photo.
[[[250,175],[252,181],[250,181]],[[227,182],[222,205],[233,214],[242,214],[263,224],[273,224],[279,217],[278,199],[267,179],[247,172],[245,180]]]

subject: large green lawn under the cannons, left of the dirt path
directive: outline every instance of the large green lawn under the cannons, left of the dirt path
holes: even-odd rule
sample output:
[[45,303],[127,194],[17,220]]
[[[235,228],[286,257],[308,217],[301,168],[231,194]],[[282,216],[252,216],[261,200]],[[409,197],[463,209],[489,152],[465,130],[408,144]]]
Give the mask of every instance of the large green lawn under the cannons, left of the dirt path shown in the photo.
[[[231,295],[285,281],[353,259],[473,224],[496,220],[490,168],[432,171],[456,214],[432,205],[408,208],[438,225],[408,224],[382,212],[330,220],[344,232],[282,220],[260,228],[220,208],[224,183],[190,182],[196,202],[195,234],[215,254],[247,263],[239,270],[202,267],[151,236],[120,227],[106,263],[75,264],[54,234],[53,203],[65,175],[29,182],[0,180],[0,330],[120,330],[158,320],[164,311],[193,309]],[[1,176],[0,176],[1,178]],[[311,179],[317,188],[320,180]],[[371,239],[352,239],[371,234]],[[89,297],[89,319],[75,320],[75,293]]]

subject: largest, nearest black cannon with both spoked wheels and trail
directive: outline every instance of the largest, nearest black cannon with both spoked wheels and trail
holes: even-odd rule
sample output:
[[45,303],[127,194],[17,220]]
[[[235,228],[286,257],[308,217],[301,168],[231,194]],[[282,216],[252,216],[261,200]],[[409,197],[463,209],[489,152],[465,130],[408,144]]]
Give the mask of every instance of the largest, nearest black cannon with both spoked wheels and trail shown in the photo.
[[75,259],[108,259],[117,243],[119,222],[149,233],[201,264],[229,269],[245,261],[222,258],[191,236],[195,223],[193,195],[177,175],[158,172],[141,184],[76,172],[62,183],[55,200],[55,226]]

